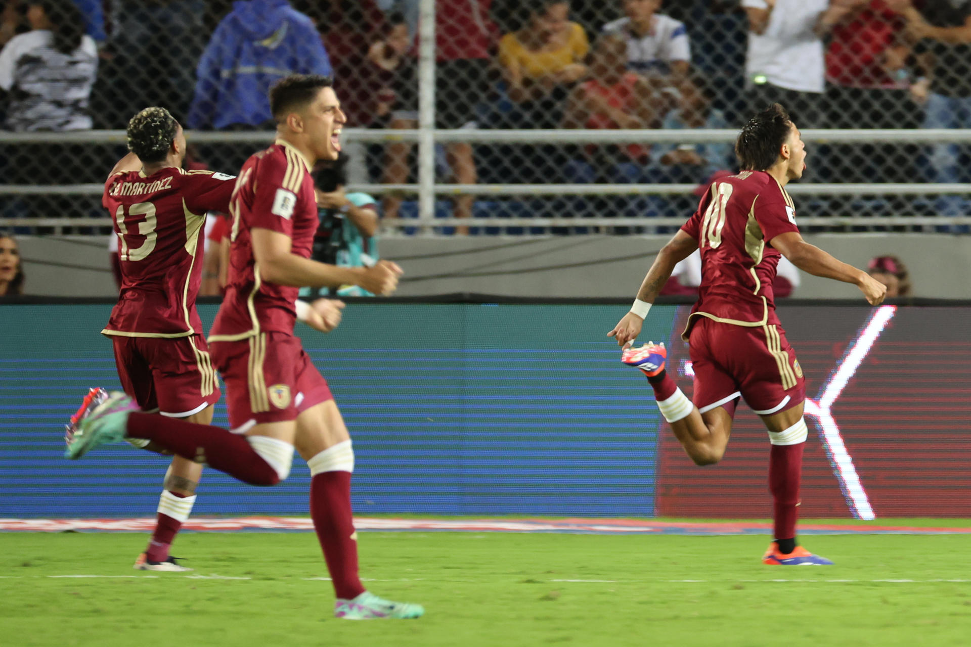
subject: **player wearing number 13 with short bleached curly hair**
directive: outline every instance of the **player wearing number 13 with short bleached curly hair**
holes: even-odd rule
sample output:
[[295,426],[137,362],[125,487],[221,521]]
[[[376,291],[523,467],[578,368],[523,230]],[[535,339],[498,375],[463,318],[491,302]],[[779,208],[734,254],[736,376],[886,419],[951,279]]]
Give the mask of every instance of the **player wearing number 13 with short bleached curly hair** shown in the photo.
[[[208,425],[219,399],[216,372],[195,309],[209,210],[227,210],[232,176],[184,171],[182,126],[164,108],[147,108],[128,123],[128,149],[105,182],[102,204],[115,218],[121,289],[108,326],[118,378],[147,413]],[[91,389],[67,429],[108,394]],[[160,420],[159,416],[151,416]],[[148,440],[132,444],[162,451]],[[141,570],[191,570],[169,546],[188,518],[202,465],[181,456],[165,475],[154,533],[135,562]]]

